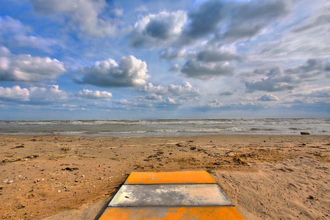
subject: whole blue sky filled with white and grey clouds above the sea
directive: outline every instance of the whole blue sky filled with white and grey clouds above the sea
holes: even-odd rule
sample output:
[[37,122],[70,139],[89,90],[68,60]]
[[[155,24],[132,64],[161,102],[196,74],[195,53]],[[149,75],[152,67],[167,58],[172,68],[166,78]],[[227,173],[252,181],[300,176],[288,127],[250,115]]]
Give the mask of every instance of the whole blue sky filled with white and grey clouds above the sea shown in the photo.
[[0,0],[0,119],[330,117],[328,0]]

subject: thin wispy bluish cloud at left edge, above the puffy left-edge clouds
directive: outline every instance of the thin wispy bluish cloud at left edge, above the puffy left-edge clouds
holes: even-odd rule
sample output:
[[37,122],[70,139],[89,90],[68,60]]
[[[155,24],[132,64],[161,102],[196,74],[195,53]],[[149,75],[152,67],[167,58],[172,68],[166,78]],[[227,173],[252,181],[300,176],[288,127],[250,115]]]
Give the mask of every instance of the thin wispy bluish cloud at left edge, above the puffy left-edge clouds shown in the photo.
[[55,39],[33,35],[30,27],[9,16],[0,16],[0,23],[3,43],[39,48],[47,52],[51,52],[51,46],[57,44]]

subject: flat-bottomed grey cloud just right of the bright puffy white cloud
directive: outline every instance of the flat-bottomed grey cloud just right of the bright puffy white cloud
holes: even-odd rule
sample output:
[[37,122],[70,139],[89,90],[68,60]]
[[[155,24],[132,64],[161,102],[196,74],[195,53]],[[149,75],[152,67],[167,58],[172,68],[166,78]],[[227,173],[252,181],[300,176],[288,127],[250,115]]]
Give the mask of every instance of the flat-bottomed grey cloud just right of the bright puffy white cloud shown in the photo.
[[212,79],[220,75],[232,75],[234,68],[227,62],[199,62],[188,60],[181,67],[181,73],[189,78]]

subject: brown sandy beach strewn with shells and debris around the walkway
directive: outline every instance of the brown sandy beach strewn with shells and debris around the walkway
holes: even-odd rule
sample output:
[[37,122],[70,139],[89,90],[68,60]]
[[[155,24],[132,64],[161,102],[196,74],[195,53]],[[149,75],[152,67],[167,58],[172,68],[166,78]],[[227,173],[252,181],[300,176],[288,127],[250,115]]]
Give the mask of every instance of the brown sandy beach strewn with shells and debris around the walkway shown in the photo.
[[246,219],[330,219],[330,136],[0,135],[2,219],[94,219],[132,171],[207,170]]

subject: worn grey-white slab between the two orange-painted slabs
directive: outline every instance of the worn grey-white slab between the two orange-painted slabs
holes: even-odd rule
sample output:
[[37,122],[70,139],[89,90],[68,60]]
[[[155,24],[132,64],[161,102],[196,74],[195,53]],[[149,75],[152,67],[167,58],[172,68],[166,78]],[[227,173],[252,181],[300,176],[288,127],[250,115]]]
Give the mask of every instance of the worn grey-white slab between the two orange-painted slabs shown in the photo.
[[217,184],[122,185],[108,206],[232,205]]

